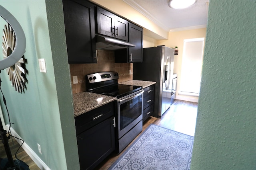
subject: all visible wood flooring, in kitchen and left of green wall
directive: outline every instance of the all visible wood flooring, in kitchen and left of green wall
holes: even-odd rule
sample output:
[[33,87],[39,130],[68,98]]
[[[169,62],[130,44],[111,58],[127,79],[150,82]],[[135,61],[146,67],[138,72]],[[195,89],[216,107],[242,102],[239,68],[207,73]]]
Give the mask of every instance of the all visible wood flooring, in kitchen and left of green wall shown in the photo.
[[[174,103],[171,105],[171,107],[162,115],[161,118],[149,117],[143,123],[142,132],[148,127],[148,125],[152,123],[155,125],[159,125],[161,127],[165,127],[167,129],[184,133],[186,135],[194,136],[195,126],[196,126],[196,115],[197,115],[197,103],[186,102],[182,100],[175,100]],[[133,141],[135,141],[137,137]],[[130,143],[130,145],[132,144],[132,142]],[[12,155],[14,155],[16,150],[19,147],[19,144],[15,140],[14,140],[14,144],[12,144],[11,140],[9,140],[9,143],[10,143],[9,145],[11,148]],[[130,145],[128,145],[120,154],[116,154],[116,153],[110,154],[95,169],[107,170]],[[1,158],[6,158],[6,154],[5,154],[5,150],[2,145],[2,142],[0,147],[1,147]],[[20,160],[26,162],[30,170],[40,170],[40,168],[38,168],[38,166],[33,162],[33,160],[26,154],[26,152],[22,148],[19,150],[17,157]],[[14,159],[16,158],[14,157]]]

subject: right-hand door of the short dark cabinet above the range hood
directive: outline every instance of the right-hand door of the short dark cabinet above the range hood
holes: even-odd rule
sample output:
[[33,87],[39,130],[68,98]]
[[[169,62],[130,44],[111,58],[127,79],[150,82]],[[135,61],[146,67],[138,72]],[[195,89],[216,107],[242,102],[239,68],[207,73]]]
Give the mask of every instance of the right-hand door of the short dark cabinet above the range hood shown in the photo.
[[128,41],[128,21],[116,16],[114,37]]

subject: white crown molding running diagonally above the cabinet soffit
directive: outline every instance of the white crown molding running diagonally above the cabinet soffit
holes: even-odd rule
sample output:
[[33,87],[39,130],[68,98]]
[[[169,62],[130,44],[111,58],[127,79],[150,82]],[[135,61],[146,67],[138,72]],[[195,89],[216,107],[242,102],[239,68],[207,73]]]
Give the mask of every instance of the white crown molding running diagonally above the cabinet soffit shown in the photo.
[[123,0],[126,4],[130,5],[132,8],[140,12],[140,14],[146,16],[149,20],[154,22],[156,25],[160,26],[162,29],[166,31],[170,31],[168,27],[160,23],[154,16],[152,16],[150,13],[148,13],[144,8],[142,8],[140,5],[138,5],[134,0]]

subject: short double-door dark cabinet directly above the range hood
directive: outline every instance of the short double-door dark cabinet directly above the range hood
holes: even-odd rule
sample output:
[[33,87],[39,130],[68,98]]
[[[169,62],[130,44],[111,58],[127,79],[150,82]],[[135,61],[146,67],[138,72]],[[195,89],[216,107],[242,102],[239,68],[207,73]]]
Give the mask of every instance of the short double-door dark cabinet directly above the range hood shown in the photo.
[[128,21],[97,6],[97,33],[128,41]]

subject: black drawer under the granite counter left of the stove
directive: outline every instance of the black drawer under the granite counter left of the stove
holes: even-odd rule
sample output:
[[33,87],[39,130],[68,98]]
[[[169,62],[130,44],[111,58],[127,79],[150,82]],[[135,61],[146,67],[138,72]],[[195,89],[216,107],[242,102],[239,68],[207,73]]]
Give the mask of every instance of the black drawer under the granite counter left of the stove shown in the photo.
[[110,102],[96,109],[75,117],[76,134],[79,134],[94,125],[114,115],[115,102]]

